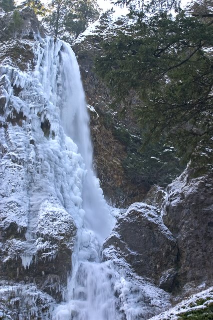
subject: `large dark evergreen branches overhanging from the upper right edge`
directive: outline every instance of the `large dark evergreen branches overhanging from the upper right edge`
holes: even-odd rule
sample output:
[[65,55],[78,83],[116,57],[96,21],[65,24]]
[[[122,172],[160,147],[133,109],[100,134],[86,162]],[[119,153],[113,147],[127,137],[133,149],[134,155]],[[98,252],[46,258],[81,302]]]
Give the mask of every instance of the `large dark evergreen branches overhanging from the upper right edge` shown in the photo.
[[213,23],[160,12],[138,19],[132,32],[102,42],[96,58],[99,75],[118,101],[134,90],[141,101],[136,115],[143,145],[164,140],[183,161],[212,146]]

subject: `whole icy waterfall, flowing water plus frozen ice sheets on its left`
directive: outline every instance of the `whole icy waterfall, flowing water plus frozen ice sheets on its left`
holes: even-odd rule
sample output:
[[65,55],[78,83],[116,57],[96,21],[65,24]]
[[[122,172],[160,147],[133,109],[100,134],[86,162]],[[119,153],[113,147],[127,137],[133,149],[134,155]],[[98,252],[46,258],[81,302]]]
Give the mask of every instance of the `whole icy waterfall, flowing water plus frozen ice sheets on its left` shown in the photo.
[[[66,222],[74,220],[72,274],[64,302],[52,311],[54,320],[153,316],[169,305],[169,295],[137,277],[123,260],[101,262],[101,245],[114,217],[92,170],[89,119],[76,57],[67,43],[50,37],[37,42],[34,51],[34,71],[21,72],[9,64],[0,68],[6,101],[1,122],[15,112],[26,118],[21,125],[9,123],[7,133],[0,127],[0,177],[10,181],[0,187],[5,193],[1,223],[6,228],[12,219],[20,230],[26,229],[26,241],[18,246],[27,268],[47,245],[37,235],[57,241],[66,232]],[[14,87],[21,89],[19,94]],[[49,223],[51,215],[56,222]],[[73,246],[71,240],[68,245]],[[54,254],[52,247],[45,258]]]

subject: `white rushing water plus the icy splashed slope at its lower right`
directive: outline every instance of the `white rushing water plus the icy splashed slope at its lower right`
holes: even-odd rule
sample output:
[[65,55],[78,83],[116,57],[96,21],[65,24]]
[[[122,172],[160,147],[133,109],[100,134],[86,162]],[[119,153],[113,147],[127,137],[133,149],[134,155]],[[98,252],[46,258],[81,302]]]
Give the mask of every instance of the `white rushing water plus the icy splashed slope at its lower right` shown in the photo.
[[[72,165],[80,166],[84,172],[80,174],[79,186],[71,187],[75,195],[68,196],[67,203],[64,201],[64,206],[73,216],[78,231],[72,254],[72,272],[68,277],[67,294],[64,302],[54,308],[52,318],[53,320],[147,318],[148,315],[155,314],[155,308],[158,309],[162,303],[159,301],[161,293],[158,289],[153,290],[152,285],[137,278],[123,260],[118,261],[115,257],[116,265],[120,265],[118,267],[113,261],[102,262],[100,258],[102,243],[110,234],[115,221],[92,170],[89,116],[79,66],[71,47],[63,41],[47,38],[44,48],[40,47],[38,50],[35,74],[42,84],[47,100],[60,114],[67,147],[80,153],[80,157],[76,157],[74,152],[76,159]],[[49,117],[54,130],[57,124],[54,124],[54,118]],[[70,208],[70,201],[74,202],[74,208],[73,206]],[[162,299],[165,299],[164,295]]]

